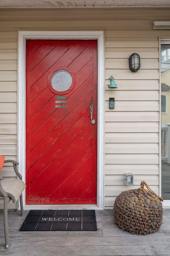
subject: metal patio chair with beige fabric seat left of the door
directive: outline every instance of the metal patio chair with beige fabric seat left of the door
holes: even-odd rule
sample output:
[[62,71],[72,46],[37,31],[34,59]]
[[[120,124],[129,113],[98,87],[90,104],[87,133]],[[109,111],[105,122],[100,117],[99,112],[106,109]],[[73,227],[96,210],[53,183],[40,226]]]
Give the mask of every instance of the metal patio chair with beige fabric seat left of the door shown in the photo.
[[4,198],[4,231],[5,231],[5,247],[6,249],[10,246],[9,245],[9,234],[8,234],[8,203],[12,199],[13,203],[15,203],[18,198],[20,197],[20,205],[21,205],[21,216],[24,215],[23,210],[23,201],[22,201],[22,192],[25,189],[25,183],[22,181],[22,176],[17,170],[17,163],[14,160],[5,160],[4,163],[11,162],[13,163],[15,173],[19,177],[19,179],[13,179],[13,180],[4,180],[3,177],[0,176],[0,197]]

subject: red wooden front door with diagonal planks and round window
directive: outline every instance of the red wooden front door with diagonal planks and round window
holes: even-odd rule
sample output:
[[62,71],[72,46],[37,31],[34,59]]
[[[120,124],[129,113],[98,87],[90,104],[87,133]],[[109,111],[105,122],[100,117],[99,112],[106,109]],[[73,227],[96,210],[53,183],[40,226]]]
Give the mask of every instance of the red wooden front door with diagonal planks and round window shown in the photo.
[[26,204],[96,204],[96,40],[27,40],[26,186]]

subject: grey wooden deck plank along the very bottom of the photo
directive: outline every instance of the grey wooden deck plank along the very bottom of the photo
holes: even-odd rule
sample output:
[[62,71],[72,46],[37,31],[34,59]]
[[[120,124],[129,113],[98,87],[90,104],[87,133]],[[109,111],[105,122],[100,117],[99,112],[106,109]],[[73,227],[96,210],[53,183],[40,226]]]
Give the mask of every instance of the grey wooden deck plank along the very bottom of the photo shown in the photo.
[[[1,253],[6,255],[23,256],[35,255],[36,256],[49,256],[49,255],[61,255],[61,256],[139,256],[139,255],[155,255],[155,252],[159,255],[169,255],[169,245],[127,245],[127,246],[24,246],[24,247],[10,247],[8,251],[0,247]],[[56,254],[57,252],[57,254]],[[163,253],[163,254],[162,254]]]

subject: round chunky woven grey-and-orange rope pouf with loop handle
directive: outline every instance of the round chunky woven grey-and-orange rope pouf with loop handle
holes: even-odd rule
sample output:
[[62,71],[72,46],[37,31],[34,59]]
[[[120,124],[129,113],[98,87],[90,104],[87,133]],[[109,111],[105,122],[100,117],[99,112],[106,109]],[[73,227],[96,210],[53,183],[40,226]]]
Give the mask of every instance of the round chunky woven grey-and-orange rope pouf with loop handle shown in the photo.
[[147,189],[123,191],[114,202],[115,223],[133,234],[146,235],[159,230],[162,224],[162,197],[158,197],[146,184]]

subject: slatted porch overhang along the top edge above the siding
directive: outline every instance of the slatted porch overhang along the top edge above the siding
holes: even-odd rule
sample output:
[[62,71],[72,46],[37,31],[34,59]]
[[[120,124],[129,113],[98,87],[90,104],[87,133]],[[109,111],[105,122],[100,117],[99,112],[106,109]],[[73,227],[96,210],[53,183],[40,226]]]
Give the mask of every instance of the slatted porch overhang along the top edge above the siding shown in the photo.
[[88,1],[43,1],[43,0],[0,0],[2,7],[166,7],[170,6],[170,0],[88,0]]

